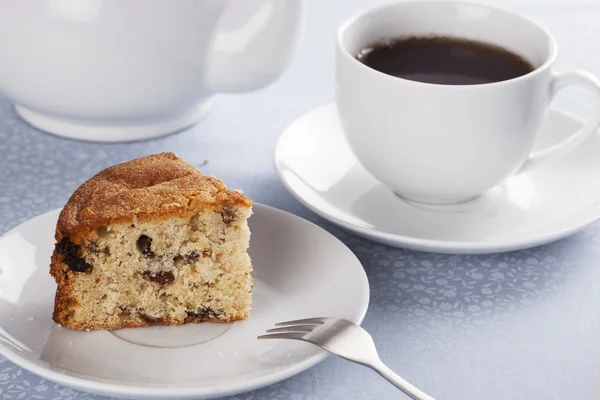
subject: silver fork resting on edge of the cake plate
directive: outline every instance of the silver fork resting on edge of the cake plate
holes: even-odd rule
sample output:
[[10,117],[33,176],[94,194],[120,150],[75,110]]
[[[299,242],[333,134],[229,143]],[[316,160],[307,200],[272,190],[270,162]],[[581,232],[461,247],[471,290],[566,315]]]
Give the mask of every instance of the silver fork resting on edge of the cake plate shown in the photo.
[[414,400],[434,400],[387,367],[377,354],[373,338],[360,326],[338,318],[308,318],[275,324],[259,339],[295,339],[312,343],[346,360],[375,370]]

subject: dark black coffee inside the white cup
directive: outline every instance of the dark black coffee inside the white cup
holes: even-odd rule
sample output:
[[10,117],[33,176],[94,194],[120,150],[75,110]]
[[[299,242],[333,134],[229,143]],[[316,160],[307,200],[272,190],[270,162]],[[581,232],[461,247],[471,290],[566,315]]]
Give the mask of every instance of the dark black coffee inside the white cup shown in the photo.
[[502,47],[453,37],[388,40],[361,50],[356,59],[388,75],[442,85],[500,82],[534,70]]

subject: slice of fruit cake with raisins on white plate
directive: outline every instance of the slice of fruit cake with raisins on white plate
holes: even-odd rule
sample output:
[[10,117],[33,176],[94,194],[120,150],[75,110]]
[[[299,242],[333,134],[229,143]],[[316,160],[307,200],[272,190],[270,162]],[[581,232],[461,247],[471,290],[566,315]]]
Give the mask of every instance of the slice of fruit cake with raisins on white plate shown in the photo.
[[251,213],[241,192],[172,153],[105,169],[60,213],[54,321],[116,329],[246,318]]

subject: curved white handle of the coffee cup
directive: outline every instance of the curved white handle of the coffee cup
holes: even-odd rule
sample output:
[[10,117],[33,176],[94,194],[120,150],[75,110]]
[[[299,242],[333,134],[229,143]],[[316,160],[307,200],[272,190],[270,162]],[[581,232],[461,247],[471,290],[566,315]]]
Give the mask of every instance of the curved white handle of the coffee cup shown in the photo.
[[555,74],[550,82],[550,98],[553,99],[563,88],[571,85],[582,86],[592,92],[597,105],[595,115],[573,135],[547,149],[531,154],[519,173],[537,168],[575,150],[591,138],[600,127],[600,79],[587,71],[566,71]]

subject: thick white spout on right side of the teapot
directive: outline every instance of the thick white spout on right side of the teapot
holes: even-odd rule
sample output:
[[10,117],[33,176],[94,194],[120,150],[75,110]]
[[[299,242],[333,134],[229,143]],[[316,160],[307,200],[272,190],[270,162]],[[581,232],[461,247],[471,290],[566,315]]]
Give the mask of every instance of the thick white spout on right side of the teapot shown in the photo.
[[205,70],[214,92],[259,89],[285,70],[296,47],[302,0],[228,0]]

